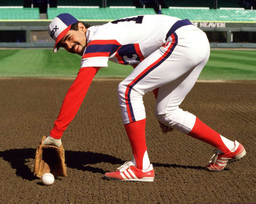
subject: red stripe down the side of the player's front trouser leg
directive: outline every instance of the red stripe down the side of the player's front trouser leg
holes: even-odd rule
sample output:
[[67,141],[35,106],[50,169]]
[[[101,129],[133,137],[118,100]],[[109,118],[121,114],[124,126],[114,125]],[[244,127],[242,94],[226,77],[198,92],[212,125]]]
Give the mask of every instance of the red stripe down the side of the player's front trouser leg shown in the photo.
[[126,109],[127,109],[127,114],[128,114],[130,123],[134,122],[135,120],[133,121],[133,119],[132,119],[131,110],[130,110],[129,101],[128,101],[129,89],[131,88],[133,83],[135,83],[143,74],[145,74],[149,69],[151,69],[151,67],[155,66],[157,63],[159,63],[161,60],[163,60],[163,58],[171,51],[173,45],[176,43],[175,36],[172,34],[171,37],[172,37],[172,44],[169,46],[169,48],[166,50],[166,52],[161,57],[159,57],[156,62],[154,62],[153,64],[149,65],[131,83],[129,83],[127,85],[127,88],[125,90],[125,103],[126,103]]

